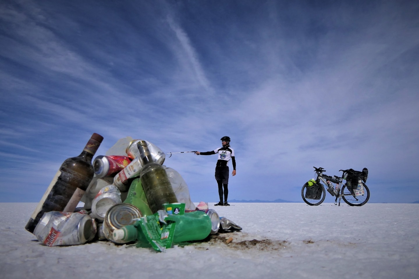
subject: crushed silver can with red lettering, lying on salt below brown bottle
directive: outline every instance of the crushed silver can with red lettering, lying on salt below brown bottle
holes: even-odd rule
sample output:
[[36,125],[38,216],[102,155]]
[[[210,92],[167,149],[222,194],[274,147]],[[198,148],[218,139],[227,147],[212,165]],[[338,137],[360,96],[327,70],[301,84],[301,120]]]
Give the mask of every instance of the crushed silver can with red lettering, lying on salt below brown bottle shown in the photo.
[[79,245],[93,240],[96,220],[78,212],[44,213],[34,230],[36,238],[46,246]]

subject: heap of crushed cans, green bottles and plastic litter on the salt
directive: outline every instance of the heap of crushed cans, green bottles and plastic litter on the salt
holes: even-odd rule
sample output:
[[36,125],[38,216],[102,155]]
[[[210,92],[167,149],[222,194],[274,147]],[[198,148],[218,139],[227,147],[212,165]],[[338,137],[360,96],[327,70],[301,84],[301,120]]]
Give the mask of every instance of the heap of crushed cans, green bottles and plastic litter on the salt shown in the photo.
[[[195,206],[186,182],[176,170],[163,165],[165,159],[153,143],[120,139],[93,160],[94,176],[85,192],[78,194],[81,199],[76,199],[84,202],[83,207],[67,212],[67,205],[44,212],[36,227],[28,229],[36,213],[58,195],[46,197],[47,190],[26,229],[46,246],[112,241],[160,252],[209,235],[242,230],[207,203]],[[51,185],[60,178],[54,177]]]

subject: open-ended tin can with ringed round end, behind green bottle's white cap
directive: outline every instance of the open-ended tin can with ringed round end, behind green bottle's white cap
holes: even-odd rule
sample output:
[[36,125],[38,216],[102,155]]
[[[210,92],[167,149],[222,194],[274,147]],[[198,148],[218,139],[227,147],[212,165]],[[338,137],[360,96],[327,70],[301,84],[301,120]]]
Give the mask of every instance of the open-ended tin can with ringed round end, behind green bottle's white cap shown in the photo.
[[142,217],[142,213],[136,206],[129,203],[116,204],[106,212],[102,225],[103,235],[114,243],[127,243],[127,241],[114,239],[114,230],[132,225],[140,217]]

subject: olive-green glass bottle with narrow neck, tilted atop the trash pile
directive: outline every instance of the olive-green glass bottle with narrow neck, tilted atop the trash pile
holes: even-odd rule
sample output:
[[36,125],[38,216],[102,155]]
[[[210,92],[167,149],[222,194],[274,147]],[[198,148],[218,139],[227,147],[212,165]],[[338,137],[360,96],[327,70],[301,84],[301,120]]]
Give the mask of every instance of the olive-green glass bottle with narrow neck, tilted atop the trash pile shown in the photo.
[[155,163],[148,150],[147,143],[137,143],[140,150],[143,167],[140,172],[140,179],[148,205],[153,214],[158,210],[164,210],[164,203],[178,202],[172,184],[167,176],[164,167]]

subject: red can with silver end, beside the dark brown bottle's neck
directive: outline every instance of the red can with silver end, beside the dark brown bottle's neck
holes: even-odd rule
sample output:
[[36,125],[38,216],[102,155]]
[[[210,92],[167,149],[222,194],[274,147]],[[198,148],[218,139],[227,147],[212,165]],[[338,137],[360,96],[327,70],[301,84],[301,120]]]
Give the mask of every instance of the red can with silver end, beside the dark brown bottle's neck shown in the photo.
[[127,156],[97,156],[93,160],[93,169],[97,177],[108,177],[124,169],[131,159]]

